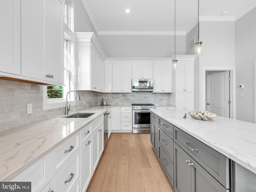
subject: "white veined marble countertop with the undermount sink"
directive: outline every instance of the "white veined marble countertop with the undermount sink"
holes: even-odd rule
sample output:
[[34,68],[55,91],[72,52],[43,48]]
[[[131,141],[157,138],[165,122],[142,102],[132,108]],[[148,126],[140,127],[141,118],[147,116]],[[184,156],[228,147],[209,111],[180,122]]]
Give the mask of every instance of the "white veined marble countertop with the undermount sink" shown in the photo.
[[79,111],[95,112],[88,118],[62,118],[70,113],[0,132],[0,181],[10,181],[110,108]]

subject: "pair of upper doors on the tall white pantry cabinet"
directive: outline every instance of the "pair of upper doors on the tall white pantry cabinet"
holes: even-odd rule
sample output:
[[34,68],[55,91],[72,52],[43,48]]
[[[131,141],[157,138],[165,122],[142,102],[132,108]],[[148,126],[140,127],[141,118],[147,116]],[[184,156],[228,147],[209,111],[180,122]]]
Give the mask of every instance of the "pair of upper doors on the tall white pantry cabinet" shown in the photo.
[[194,91],[194,61],[177,62],[176,69],[176,92]]

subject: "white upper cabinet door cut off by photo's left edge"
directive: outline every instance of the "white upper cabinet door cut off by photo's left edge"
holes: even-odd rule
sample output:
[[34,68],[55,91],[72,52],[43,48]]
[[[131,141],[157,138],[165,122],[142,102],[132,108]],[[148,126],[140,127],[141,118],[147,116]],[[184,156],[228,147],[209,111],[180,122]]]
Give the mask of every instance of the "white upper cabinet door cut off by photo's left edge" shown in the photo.
[[20,1],[1,1],[0,72],[20,75]]

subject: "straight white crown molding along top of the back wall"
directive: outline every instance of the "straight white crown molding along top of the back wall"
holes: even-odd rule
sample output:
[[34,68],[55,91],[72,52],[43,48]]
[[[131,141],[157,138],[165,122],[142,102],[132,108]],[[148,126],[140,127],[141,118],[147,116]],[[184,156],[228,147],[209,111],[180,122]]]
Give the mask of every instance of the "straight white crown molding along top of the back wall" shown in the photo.
[[[174,35],[174,31],[99,31],[98,35]],[[176,35],[186,35],[186,33],[176,31]]]

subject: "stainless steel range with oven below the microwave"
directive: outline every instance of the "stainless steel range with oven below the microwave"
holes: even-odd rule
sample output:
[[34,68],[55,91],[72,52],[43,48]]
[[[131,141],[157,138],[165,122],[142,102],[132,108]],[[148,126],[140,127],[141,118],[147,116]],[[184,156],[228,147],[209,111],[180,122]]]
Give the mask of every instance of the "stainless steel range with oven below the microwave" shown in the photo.
[[150,109],[153,104],[132,104],[132,133],[150,133]]

